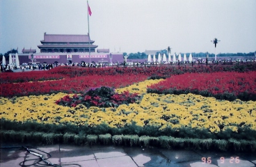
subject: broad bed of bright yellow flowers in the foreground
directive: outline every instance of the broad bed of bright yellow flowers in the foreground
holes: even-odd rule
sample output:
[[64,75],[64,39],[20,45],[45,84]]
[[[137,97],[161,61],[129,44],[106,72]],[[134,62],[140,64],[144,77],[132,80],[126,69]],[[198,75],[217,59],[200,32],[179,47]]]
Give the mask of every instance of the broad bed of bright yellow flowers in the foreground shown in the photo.
[[[158,80],[153,81],[158,82]],[[145,81],[142,85],[147,87],[148,83],[152,84],[152,81]],[[134,86],[140,88],[139,84]],[[42,124],[71,124],[76,127],[97,128],[106,125],[113,134],[118,132],[115,129],[135,126],[135,129],[131,128],[129,131],[150,136],[172,134],[179,137],[227,138],[231,135],[235,138],[239,134],[250,139],[256,137],[243,133],[244,130],[249,132],[256,130],[256,102],[252,101],[229,102],[191,93],[187,95],[147,93],[139,103],[122,104],[116,108],[92,106],[87,109],[81,104],[74,108],[56,105],[55,102],[64,96],[65,94],[58,93],[13,97],[10,100],[1,97],[0,116],[18,122],[29,120]],[[152,128],[151,132],[150,128]]]

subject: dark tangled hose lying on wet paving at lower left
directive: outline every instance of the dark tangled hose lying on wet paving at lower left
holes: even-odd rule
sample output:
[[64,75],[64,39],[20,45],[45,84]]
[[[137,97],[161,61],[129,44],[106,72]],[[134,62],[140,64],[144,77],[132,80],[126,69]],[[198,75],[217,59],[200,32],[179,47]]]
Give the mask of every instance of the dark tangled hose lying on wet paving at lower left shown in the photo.
[[[35,157],[38,157],[36,159],[28,159],[26,160],[26,157],[24,159],[24,161],[20,162],[19,163],[19,166],[54,166],[54,167],[62,167],[62,166],[79,166],[81,167],[79,164],[63,164],[63,165],[58,165],[58,164],[52,164],[49,160],[50,157],[51,157],[51,154],[47,153],[47,152],[44,152],[42,150],[39,150],[37,148],[33,148],[33,147],[30,147],[30,146],[11,146],[11,147],[0,147],[0,149],[5,149],[5,148],[21,148],[22,150],[26,150],[26,152],[28,154],[33,154],[35,155]],[[38,152],[35,152],[31,149],[34,149],[34,150],[38,150]],[[47,157],[44,156],[44,154],[40,154],[40,152],[43,152],[45,154],[47,154]],[[26,154],[27,155],[27,154]],[[33,161],[32,164],[28,164],[28,161]]]

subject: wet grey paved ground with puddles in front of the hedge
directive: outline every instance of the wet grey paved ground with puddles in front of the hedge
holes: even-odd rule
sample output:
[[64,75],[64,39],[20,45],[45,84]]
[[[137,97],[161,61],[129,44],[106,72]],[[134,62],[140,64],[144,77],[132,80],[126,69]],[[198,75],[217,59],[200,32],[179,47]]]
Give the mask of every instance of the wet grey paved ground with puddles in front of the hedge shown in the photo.
[[[1,147],[17,146],[1,144]],[[137,167],[137,166],[175,166],[175,167],[214,167],[214,166],[256,166],[256,154],[232,152],[202,152],[189,150],[167,150],[161,148],[129,148],[117,146],[75,146],[45,145],[31,149],[33,152],[51,154],[47,161],[61,166],[90,167]],[[40,152],[39,150],[43,151]],[[0,150],[0,166],[19,166],[33,164],[38,157],[19,148],[2,148]],[[204,163],[205,161],[205,163]],[[40,162],[42,164],[42,162]]]

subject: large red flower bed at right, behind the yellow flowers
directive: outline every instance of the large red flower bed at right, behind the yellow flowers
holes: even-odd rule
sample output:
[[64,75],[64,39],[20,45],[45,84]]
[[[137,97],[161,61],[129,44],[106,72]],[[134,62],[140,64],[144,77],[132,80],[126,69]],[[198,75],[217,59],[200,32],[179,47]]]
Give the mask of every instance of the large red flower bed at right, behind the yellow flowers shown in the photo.
[[220,100],[256,100],[256,72],[186,73],[149,86],[148,93],[195,93]]

